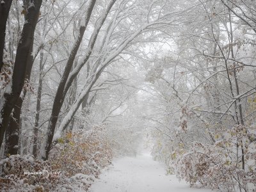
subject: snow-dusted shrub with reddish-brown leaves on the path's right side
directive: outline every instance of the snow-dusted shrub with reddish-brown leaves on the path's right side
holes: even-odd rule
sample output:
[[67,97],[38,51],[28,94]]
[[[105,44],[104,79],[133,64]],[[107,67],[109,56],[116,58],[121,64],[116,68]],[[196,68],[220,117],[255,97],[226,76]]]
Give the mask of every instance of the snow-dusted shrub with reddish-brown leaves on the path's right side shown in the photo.
[[214,145],[194,143],[188,153],[175,161],[177,176],[191,186],[252,191],[256,188],[255,133],[237,126],[222,138]]

